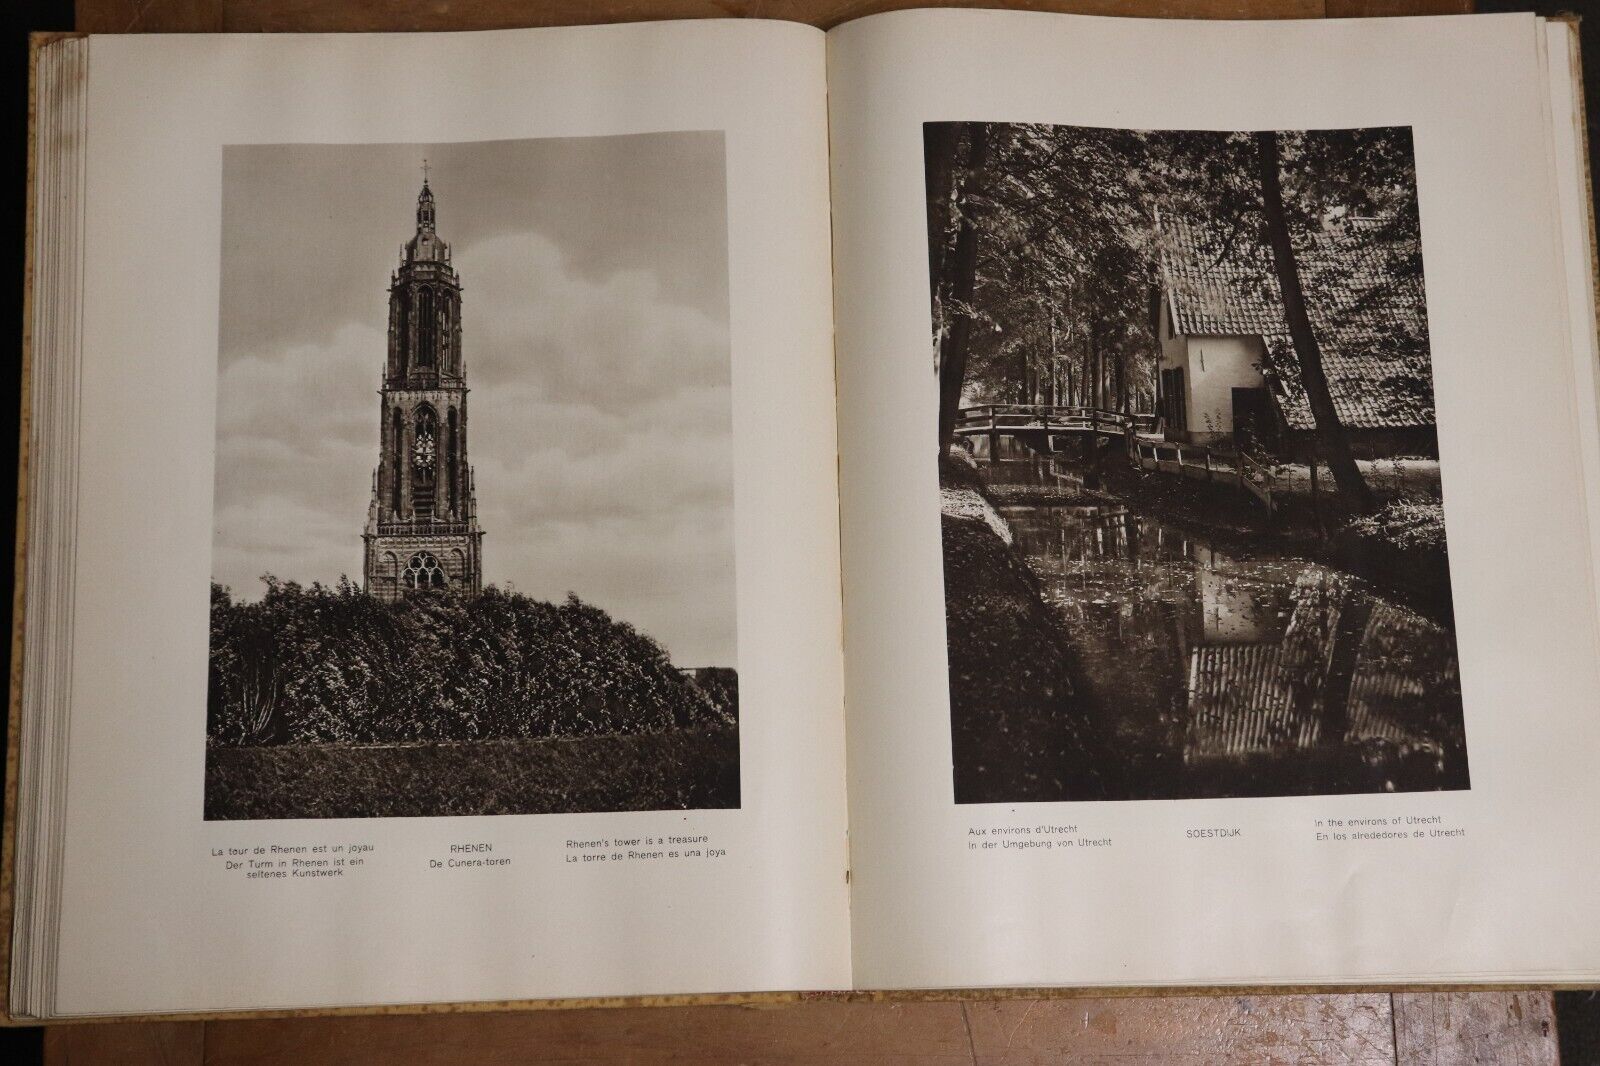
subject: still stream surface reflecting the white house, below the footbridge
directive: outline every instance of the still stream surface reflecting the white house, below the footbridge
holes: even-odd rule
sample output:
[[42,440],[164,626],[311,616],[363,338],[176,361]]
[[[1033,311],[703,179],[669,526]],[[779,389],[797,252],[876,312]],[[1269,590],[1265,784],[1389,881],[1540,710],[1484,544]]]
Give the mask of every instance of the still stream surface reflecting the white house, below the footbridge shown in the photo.
[[[1056,480],[1002,463],[998,483]],[[998,493],[997,493],[998,495]],[[1002,496],[1003,498],[1003,496]],[[1466,787],[1454,634],[1298,559],[1122,506],[1005,506],[1123,797]]]

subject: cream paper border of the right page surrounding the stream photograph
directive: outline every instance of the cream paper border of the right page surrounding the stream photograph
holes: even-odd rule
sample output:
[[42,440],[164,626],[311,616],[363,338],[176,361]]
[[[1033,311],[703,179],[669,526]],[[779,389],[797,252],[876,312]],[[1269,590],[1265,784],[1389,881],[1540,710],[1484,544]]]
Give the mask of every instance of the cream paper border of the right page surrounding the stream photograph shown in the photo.
[[[832,32],[858,986],[1595,973],[1600,615],[1542,34],[970,11]],[[955,802],[926,122],[1410,126],[1470,787]]]

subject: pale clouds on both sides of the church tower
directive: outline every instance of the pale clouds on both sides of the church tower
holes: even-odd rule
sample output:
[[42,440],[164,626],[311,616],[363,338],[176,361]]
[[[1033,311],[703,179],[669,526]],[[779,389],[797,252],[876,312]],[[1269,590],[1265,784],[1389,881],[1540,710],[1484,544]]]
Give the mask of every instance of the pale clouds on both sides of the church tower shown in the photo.
[[[485,581],[571,591],[683,664],[734,664],[728,325],[659,282],[670,250],[656,261],[582,275],[538,232],[458,250]],[[373,317],[224,352],[213,576],[240,594],[267,571],[360,578],[387,343]]]

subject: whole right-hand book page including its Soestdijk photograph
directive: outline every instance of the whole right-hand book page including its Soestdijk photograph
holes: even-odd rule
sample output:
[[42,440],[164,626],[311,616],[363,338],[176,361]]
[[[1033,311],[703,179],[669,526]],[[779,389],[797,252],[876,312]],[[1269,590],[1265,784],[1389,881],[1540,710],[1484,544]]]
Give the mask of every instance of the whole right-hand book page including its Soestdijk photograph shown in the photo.
[[1595,973],[1542,51],[830,34],[858,986]]

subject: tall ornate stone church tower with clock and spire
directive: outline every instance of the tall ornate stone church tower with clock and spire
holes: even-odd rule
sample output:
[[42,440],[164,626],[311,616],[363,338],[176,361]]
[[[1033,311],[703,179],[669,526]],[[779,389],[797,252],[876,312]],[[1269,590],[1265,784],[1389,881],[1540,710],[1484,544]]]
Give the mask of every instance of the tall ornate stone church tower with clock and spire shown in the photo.
[[416,235],[389,279],[389,360],[378,405],[378,469],[366,511],[365,587],[381,600],[416,589],[483,587],[467,463],[467,367],[461,355],[461,282],[434,227],[424,170]]

